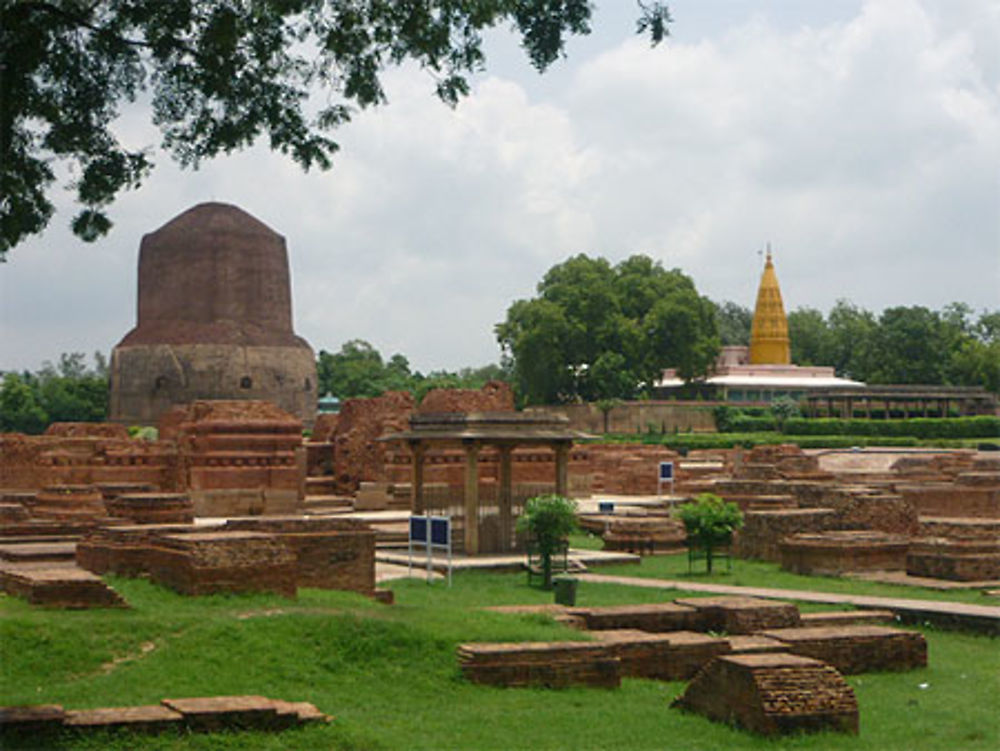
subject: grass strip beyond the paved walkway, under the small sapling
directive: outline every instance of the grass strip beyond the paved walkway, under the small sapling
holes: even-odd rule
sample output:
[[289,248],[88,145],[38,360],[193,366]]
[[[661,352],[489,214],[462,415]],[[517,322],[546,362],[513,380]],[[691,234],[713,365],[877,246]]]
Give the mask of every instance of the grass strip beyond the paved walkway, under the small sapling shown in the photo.
[[595,570],[594,573],[635,576],[647,579],[673,579],[681,582],[730,584],[745,587],[816,590],[838,594],[871,595],[914,600],[945,600],[974,605],[996,604],[995,600],[985,597],[977,589],[951,589],[943,591],[835,576],[801,576],[783,571],[777,563],[748,561],[741,558],[733,558],[731,571],[726,569],[724,561],[716,560],[715,571],[711,575],[704,572],[704,565],[704,563],[696,564],[695,571],[688,573],[687,553],[678,553],[676,555],[646,556],[638,566],[635,564],[602,566],[599,570]]

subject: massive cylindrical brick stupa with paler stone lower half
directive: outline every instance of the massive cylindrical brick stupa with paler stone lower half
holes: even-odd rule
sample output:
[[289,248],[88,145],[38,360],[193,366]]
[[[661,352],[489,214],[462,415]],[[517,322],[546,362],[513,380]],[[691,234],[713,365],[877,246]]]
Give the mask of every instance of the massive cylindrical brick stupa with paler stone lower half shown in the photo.
[[155,424],[195,399],[263,399],[308,425],[316,360],[292,329],[285,238],[203,203],[142,238],[138,320],[111,353],[110,418]]

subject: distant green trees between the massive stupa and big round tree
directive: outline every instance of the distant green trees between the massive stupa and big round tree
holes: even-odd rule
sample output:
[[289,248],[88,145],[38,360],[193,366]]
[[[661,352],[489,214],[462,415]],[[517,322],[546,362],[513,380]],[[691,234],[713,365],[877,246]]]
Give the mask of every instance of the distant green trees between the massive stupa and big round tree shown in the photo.
[[507,381],[500,365],[462,368],[457,371],[434,370],[424,375],[412,371],[405,356],[396,353],[383,359],[381,353],[363,339],[345,342],[338,352],[320,350],[316,359],[319,393],[341,401],[351,397],[378,396],[386,391],[410,391],[419,402],[431,389],[482,388],[494,380]]

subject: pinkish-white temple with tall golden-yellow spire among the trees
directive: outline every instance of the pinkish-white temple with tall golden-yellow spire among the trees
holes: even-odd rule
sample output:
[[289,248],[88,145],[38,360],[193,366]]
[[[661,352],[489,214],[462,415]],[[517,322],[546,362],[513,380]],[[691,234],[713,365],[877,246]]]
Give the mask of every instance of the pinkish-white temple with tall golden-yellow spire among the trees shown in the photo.
[[[757,288],[750,346],[723,347],[713,375],[698,385],[708,387],[715,398],[732,402],[771,402],[782,396],[802,399],[816,389],[864,387],[859,381],[838,378],[829,366],[792,364],[788,317],[770,248]],[[657,384],[667,393],[682,386],[674,370],[665,370]]]

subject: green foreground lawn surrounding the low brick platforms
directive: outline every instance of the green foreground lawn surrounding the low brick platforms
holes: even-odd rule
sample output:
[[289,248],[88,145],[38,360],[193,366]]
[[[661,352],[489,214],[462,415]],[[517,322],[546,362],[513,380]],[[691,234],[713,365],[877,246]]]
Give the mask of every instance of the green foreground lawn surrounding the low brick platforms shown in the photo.
[[[625,570],[644,572],[653,562]],[[460,642],[585,638],[548,618],[478,609],[551,602],[523,575],[462,573],[451,589],[395,582],[393,606],[312,589],[296,600],[189,598],[141,580],[113,584],[131,610],[45,611],[0,596],[0,704],[75,709],[263,694],[312,702],[336,719],[275,734],[66,735],[57,748],[996,751],[1000,744],[1000,648],[982,636],[928,629],[928,668],[848,678],[861,707],[857,737],[767,741],[671,709],[681,683],[627,679],[618,690],[560,691],[466,683],[455,658]],[[581,583],[578,602],[685,594]],[[27,739],[7,747],[34,746]]]

